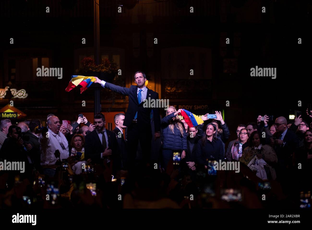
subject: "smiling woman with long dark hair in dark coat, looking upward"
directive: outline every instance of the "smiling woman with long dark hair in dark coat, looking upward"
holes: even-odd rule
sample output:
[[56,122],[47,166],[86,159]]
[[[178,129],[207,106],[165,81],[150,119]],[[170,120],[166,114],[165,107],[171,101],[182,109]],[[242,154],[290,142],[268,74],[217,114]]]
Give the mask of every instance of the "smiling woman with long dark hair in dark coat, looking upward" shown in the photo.
[[205,127],[205,135],[198,141],[196,150],[197,162],[207,167],[208,160],[223,160],[222,141],[217,139],[217,127],[213,123],[209,123]]

